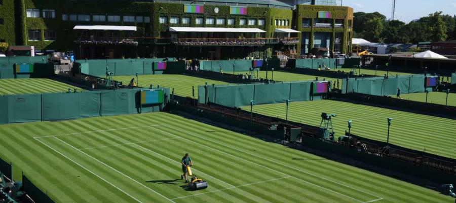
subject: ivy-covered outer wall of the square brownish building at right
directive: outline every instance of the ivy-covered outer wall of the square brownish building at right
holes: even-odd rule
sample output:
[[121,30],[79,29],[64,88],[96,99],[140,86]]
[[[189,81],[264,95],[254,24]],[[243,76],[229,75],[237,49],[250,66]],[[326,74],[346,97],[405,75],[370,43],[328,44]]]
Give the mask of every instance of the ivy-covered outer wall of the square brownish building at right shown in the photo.
[[[314,27],[314,20],[318,18],[319,11],[331,12],[331,23],[335,23],[336,19],[344,20],[343,28],[321,28]],[[343,44],[341,53],[347,53],[351,50],[351,42],[353,37],[352,28],[349,27],[349,20],[353,24],[353,8],[341,6],[320,6],[320,5],[297,5],[294,13],[294,25],[296,30],[301,32],[310,32],[309,44],[314,47],[314,33],[315,32],[331,32],[330,52],[334,52],[335,33],[343,34]],[[311,19],[311,27],[302,27],[302,19]],[[298,51],[301,50],[301,43],[298,44]]]

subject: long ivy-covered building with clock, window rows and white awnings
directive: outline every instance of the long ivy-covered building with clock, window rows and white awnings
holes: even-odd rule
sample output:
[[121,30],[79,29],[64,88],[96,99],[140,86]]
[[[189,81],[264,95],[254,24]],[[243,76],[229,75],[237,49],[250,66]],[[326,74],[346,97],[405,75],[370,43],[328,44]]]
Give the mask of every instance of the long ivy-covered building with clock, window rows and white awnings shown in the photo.
[[77,58],[293,56],[309,32],[297,11],[276,0],[0,0],[0,41]]

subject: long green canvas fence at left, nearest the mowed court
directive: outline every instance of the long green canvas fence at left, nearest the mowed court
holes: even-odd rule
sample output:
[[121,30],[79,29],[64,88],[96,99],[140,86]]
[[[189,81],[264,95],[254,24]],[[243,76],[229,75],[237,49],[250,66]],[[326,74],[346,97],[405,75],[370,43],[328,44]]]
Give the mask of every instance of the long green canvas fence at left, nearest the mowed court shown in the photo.
[[[139,113],[139,91],[116,89],[0,96],[0,124]],[[165,103],[142,107],[142,113],[161,111],[169,100],[170,90],[165,89]]]

